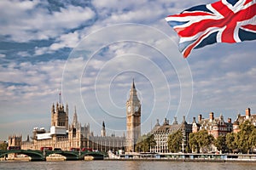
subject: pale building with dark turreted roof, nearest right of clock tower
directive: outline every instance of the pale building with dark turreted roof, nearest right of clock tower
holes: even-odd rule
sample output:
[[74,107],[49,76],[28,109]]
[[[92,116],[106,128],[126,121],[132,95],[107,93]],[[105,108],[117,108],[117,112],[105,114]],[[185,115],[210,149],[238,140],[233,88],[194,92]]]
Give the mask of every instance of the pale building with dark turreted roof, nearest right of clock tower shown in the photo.
[[182,152],[185,151],[186,147],[189,145],[189,133],[192,132],[192,125],[188,124],[183,116],[183,122],[181,124],[177,123],[177,118],[174,117],[174,122],[169,124],[169,120],[165,118],[163,125],[160,125],[159,120],[157,120],[151,133],[154,134],[154,140],[156,144],[153,148],[150,148],[150,152],[154,153],[168,153],[168,137],[172,133],[176,133],[181,130],[183,133],[183,143]]

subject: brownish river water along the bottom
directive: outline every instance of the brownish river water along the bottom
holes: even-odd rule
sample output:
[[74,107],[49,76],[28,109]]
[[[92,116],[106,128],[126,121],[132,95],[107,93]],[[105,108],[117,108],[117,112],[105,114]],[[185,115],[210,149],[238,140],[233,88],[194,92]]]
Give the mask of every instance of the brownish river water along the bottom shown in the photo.
[[26,170],[152,170],[152,169],[193,169],[193,170],[246,170],[256,169],[256,162],[185,162],[185,161],[0,161],[0,169]]

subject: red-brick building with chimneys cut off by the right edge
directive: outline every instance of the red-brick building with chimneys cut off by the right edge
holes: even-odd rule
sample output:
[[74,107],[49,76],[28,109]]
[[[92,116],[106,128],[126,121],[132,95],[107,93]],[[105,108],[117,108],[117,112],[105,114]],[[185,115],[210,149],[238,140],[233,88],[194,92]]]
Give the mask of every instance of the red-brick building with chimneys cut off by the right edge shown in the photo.
[[256,114],[251,114],[251,109],[247,108],[245,110],[245,115],[241,116],[238,114],[236,117],[236,121],[233,123],[234,133],[238,133],[240,131],[239,125],[243,122],[252,122],[253,125],[256,127]]

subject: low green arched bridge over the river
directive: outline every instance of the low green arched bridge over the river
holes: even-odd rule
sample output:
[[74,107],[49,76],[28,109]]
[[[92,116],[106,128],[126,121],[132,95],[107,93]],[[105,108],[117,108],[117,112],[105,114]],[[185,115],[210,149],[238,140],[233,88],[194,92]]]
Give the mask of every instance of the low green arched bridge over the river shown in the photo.
[[85,156],[91,156],[93,160],[103,160],[104,155],[95,151],[67,151],[67,150],[0,150],[0,157],[8,154],[23,154],[31,157],[31,161],[46,161],[46,157],[52,154],[65,156],[67,161],[84,160]]

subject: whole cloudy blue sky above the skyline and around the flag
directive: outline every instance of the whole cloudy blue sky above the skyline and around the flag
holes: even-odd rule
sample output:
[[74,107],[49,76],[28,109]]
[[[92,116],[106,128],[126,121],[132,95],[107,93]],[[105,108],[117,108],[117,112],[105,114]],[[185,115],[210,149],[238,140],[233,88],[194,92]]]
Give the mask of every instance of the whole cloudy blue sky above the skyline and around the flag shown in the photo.
[[256,41],[215,43],[183,59],[165,17],[215,1],[0,1],[0,140],[50,127],[51,105],[76,108],[100,134],[125,133],[134,79],[142,133],[156,119],[187,122],[256,110]]

